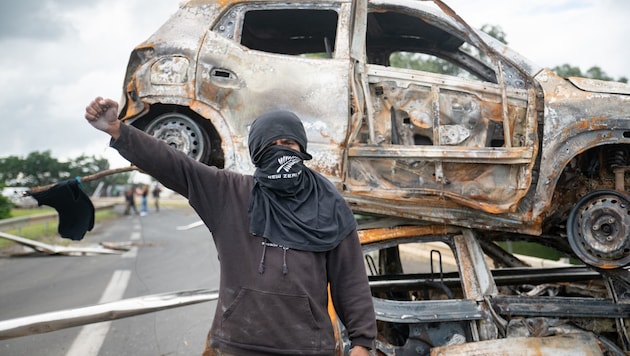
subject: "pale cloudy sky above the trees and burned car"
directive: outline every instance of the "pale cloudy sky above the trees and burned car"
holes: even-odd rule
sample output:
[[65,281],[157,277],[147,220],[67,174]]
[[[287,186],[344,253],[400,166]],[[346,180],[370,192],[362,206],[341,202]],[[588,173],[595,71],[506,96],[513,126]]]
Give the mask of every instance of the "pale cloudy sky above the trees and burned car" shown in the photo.
[[[180,0],[20,0],[0,4],[0,157],[50,150],[126,165],[106,136],[83,119],[101,95],[119,99],[132,48]],[[446,0],[471,26],[500,26],[511,47],[534,62],[583,71],[599,66],[630,78],[630,1]]]

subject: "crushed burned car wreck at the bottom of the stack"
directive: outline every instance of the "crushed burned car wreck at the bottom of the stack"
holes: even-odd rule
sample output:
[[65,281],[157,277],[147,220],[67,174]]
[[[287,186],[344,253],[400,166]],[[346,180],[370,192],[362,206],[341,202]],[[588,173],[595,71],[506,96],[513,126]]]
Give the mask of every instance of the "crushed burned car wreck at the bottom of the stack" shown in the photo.
[[[625,270],[531,267],[468,229],[368,229],[360,237],[366,256],[378,260],[369,263],[369,279],[381,354],[502,355],[510,349],[527,355],[624,355],[629,350]],[[410,273],[401,256],[390,252],[419,242],[448,248],[414,247],[430,269]],[[455,259],[456,269],[450,271],[443,270],[447,250]]]

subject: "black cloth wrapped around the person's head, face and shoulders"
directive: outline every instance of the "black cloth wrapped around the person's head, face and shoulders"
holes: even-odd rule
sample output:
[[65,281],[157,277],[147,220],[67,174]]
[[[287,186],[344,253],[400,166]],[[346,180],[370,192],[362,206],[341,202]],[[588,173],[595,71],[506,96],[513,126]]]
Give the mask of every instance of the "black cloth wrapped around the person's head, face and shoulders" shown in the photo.
[[[295,140],[301,151],[271,146],[280,138]],[[288,248],[328,251],[356,228],[350,207],[333,184],[304,165],[311,156],[295,114],[281,111],[256,119],[249,149],[257,167],[249,205],[252,234]]]

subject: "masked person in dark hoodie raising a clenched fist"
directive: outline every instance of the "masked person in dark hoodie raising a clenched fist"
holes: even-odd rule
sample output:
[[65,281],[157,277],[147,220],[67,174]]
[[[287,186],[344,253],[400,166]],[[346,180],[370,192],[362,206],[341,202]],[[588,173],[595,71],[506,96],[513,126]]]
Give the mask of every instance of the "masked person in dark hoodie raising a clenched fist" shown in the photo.
[[256,170],[244,175],[195,161],[117,112],[117,102],[97,97],[85,118],[123,157],[187,197],[212,232],[221,278],[204,355],[335,354],[329,291],[350,355],[370,354],[376,318],[356,221],[334,185],[304,165],[312,157],[295,114],[253,121]]

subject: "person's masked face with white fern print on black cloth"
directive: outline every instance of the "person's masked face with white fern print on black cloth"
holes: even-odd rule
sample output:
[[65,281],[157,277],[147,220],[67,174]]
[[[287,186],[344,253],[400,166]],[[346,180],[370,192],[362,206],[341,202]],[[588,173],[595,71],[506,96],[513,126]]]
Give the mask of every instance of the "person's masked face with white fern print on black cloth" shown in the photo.
[[304,156],[282,145],[271,146],[263,153],[254,177],[276,194],[293,196],[303,184]]

